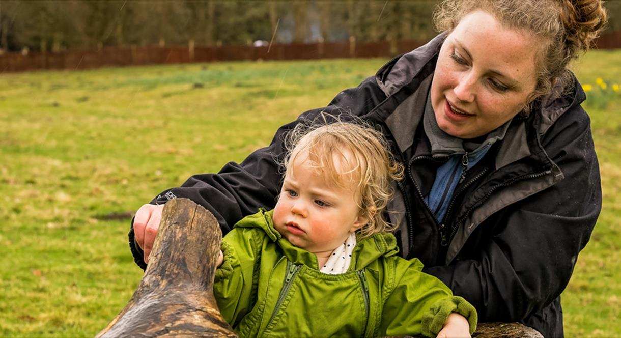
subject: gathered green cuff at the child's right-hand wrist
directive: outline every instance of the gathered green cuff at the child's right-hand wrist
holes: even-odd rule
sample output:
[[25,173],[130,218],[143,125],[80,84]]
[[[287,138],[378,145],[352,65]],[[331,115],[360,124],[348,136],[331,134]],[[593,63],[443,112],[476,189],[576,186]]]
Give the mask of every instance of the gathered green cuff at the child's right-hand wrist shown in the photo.
[[438,336],[438,332],[442,330],[448,315],[451,313],[458,313],[466,317],[470,326],[470,334],[474,333],[478,320],[476,309],[474,309],[474,306],[468,303],[466,299],[453,296],[437,301],[427,313],[423,315],[422,334],[426,337]]

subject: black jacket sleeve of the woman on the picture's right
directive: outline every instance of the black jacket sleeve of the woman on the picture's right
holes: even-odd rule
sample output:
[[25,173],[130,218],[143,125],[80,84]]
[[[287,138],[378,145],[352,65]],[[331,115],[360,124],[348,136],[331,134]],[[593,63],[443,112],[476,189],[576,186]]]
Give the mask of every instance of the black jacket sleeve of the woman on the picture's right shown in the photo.
[[[476,255],[429,267],[482,321],[523,321],[555,301],[569,282],[601,210],[601,181],[589,118],[575,107],[541,139],[564,178],[479,225],[494,229]],[[545,318],[537,319],[545,325]]]

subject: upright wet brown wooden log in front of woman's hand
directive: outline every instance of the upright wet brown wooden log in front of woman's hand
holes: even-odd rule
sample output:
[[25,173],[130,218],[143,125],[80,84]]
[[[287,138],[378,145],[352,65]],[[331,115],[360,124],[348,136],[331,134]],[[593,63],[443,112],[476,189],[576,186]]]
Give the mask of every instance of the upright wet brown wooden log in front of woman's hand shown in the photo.
[[97,337],[236,337],[213,292],[221,240],[211,212],[189,199],[168,201],[140,285]]

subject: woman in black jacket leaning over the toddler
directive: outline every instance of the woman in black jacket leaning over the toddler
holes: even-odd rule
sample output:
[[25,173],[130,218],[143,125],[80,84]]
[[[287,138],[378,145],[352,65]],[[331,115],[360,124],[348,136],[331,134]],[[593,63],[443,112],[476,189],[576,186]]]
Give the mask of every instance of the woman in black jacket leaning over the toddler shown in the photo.
[[[240,165],[193,176],[152,203],[193,199],[228,231],[274,207],[273,157],[288,130],[320,112],[362,117],[406,167],[388,215],[400,224],[401,255],[419,258],[481,321],[563,336],[560,294],[601,209],[584,92],[566,66],[605,18],[599,0],[445,1],[435,16],[443,34],[281,127]],[[130,231],[142,268],[160,214],[145,204]]]

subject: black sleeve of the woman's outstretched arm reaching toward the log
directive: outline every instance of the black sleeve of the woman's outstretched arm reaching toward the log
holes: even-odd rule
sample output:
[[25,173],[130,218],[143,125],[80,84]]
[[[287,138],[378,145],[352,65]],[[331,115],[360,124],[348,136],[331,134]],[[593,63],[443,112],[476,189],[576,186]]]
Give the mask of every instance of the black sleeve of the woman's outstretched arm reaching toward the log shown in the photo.
[[[282,159],[284,155],[284,136],[288,130],[299,123],[315,121],[320,112],[333,116],[361,116],[384,98],[375,78],[369,77],[358,87],[339,93],[327,107],[304,112],[296,121],[280,127],[268,147],[251,153],[242,163],[230,162],[217,174],[191,176],[180,187],[160,193],[151,203],[162,204],[173,198],[189,198],[211,211],[220,223],[223,234],[226,234],[233,224],[255,214],[258,208],[274,208],[282,184],[281,170],[275,159]],[[143,261],[142,250],[134,239],[133,221],[129,245],[134,261],[145,269],[147,265]]]

